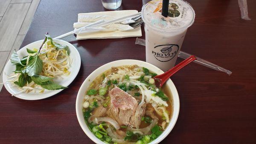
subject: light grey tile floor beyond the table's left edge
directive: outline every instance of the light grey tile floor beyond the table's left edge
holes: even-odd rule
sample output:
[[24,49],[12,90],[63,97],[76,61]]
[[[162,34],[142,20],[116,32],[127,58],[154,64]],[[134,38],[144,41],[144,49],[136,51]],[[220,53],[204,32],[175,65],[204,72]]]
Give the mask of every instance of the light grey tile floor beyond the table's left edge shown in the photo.
[[[3,68],[26,35],[40,0],[0,0],[0,83]],[[3,84],[0,84],[0,91]]]

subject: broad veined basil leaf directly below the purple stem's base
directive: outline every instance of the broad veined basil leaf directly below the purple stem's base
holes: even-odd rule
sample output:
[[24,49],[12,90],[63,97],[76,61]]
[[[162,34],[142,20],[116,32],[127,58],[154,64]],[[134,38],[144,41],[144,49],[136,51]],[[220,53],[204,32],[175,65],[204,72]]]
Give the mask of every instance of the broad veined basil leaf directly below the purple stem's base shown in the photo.
[[29,60],[28,65],[26,66],[26,73],[29,76],[39,74],[43,70],[43,61],[35,55]]

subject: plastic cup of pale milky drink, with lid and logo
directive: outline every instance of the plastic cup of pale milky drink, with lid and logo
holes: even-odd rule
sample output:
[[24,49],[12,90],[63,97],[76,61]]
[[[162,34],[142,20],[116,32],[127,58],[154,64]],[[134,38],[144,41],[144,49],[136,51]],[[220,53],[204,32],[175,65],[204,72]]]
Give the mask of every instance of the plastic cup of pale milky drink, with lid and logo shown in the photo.
[[145,28],[146,62],[163,71],[175,66],[178,53],[195,11],[183,0],[169,1],[168,17],[161,15],[162,0],[152,0],[142,8]]

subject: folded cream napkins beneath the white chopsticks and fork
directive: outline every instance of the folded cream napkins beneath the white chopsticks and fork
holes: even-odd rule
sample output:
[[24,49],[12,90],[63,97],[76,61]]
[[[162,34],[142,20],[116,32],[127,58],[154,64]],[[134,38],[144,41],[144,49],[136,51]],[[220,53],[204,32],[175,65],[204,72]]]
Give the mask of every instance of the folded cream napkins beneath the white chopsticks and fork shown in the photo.
[[[130,14],[138,13],[137,10],[123,11],[107,11],[107,12],[91,12],[78,14],[78,22],[74,23],[74,28],[78,29],[87,24],[99,20],[113,20],[115,18],[124,17]],[[124,37],[140,37],[142,36],[141,28],[136,29],[129,26],[134,20],[124,20],[119,23],[112,23],[108,26],[86,29],[76,35],[77,40],[84,39],[100,39],[100,38],[124,38]]]

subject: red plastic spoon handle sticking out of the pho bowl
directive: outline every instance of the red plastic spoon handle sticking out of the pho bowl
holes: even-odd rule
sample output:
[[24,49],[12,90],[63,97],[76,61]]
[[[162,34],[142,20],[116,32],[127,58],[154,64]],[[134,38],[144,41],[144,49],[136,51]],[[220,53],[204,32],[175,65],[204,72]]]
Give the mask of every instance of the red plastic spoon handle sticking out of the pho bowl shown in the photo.
[[157,87],[161,87],[163,86],[163,84],[173,75],[175,74],[177,71],[179,71],[180,69],[182,69],[184,66],[186,66],[187,64],[191,63],[193,60],[196,60],[194,55],[191,55],[189,58],[187,58],[186,60],[183,60],[181,63],[177,64],[175,67],[173,67],[172,69],[169,69],[167,72],[161,74],[161,75],[157,75],[154,77],[155,80],[155,84]]

